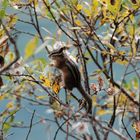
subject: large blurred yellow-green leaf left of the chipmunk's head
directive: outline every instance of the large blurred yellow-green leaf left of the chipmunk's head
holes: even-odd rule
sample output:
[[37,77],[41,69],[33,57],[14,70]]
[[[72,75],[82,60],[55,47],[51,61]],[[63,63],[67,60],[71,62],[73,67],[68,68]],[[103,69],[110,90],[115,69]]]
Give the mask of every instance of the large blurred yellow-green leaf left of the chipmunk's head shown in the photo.
[[25,53],[24,53],[24,57],[25,59],[30,58],[34,53],[35,53],[35,49],[38,45],[38,37],[35,36],[33,39],[31,39],[26,47],[25,47]]

